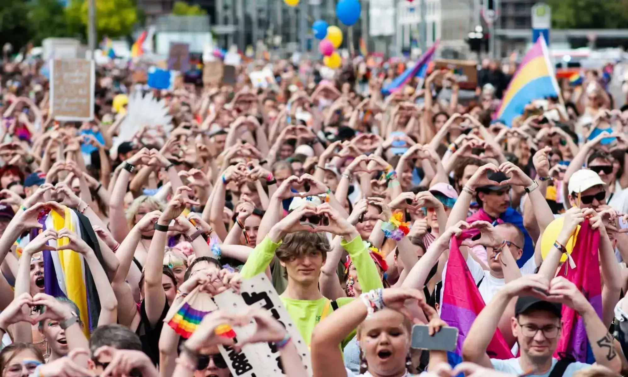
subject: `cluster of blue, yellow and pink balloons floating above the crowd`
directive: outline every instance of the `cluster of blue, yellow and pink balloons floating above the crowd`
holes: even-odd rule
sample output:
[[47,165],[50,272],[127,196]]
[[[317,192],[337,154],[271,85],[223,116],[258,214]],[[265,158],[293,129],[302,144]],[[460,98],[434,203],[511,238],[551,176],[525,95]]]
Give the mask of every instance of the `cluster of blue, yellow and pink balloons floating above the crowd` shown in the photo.
[[[286,4],[298,3],[298,0],[284,0]],[[290,4],[288,4],[290,5]],[[336,16],[340,22],[347,26],[352,26],[360,19],[362,8],[358,0],[340,0],[336,6]],[[318,43],[318,51],[323,54],[323,63],[329,68],[335,69],[342,64],[342,58],[335,50],[342,45],[342,31],[338,26],[330,26],[327,22],[319,19],[312,24],[312,31],[315,38],[321,40]]]

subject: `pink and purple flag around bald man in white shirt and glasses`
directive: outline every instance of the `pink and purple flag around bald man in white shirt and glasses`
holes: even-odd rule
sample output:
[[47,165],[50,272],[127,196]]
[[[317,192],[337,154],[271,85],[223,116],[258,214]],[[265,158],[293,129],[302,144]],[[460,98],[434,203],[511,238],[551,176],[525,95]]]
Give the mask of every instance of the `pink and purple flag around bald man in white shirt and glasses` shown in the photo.
[[[455,236],[452,237],[440,313],[443,321],[458,329],[456,351],[447,353],[452,366],[462,363],[462,344],[475,318],[485,306],[467,262],[460,253],[460,242]],[[499,329],[495,331],[486,352],[492,359],[512,358],[510,347]]]

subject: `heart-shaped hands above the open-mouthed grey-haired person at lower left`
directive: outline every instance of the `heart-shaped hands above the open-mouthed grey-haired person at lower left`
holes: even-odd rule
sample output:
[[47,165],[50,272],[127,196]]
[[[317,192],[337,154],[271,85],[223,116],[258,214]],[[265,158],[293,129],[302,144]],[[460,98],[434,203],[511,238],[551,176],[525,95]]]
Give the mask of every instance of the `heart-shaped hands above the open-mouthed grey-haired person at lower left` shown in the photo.
[[[37,317],[31,317],[31,311],[33,307],[43,305],[46,310]],[[74,316],[72,310],[67,304],[55,299],[51,295],[45,293],[38,293],[35,296],[24,292],[11,301],[6,309],[0,312],[0,328],[4,329],[9,325],[16,324],[18,322],[28,322],[31,325],[37,324],[37,322],[48,319],[49,321],[63,322]]]

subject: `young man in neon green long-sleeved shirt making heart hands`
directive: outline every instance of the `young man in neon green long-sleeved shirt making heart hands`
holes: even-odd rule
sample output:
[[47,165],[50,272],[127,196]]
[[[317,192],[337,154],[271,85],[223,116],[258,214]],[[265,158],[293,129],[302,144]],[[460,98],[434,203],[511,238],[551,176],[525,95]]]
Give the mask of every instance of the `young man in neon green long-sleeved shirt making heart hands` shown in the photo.
[[[329,224],[313,226],[301,223],[301,219],[308,216],[325,216]],[[341,245],[355,265],[364,292],[383,287],[377,266],[355,226],[328,203],[318,207],[301,206],[276,223],[249,255],[241,271],[244,279],[253,277],[264,272],[273,257],[277,256],[288,274],[288,287],[281,294],[281,301],[308,346],[314,326],[333,311],[332,302],[318,289],[320,271],[331,249],[325,232],[344,238]],[[336,304],[340,307],[351,300],[354,298],[342,297],[336,300]],[[353,334],[347,337],[342,346],[352,337]]]

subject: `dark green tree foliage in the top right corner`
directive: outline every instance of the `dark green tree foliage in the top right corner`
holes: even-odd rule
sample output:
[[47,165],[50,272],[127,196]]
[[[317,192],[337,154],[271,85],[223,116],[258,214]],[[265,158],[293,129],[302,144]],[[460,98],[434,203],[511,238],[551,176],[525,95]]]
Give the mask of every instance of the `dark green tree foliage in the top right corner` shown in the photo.
[[628,23],[628,0],[547,0],[557,29],[622,29]]

